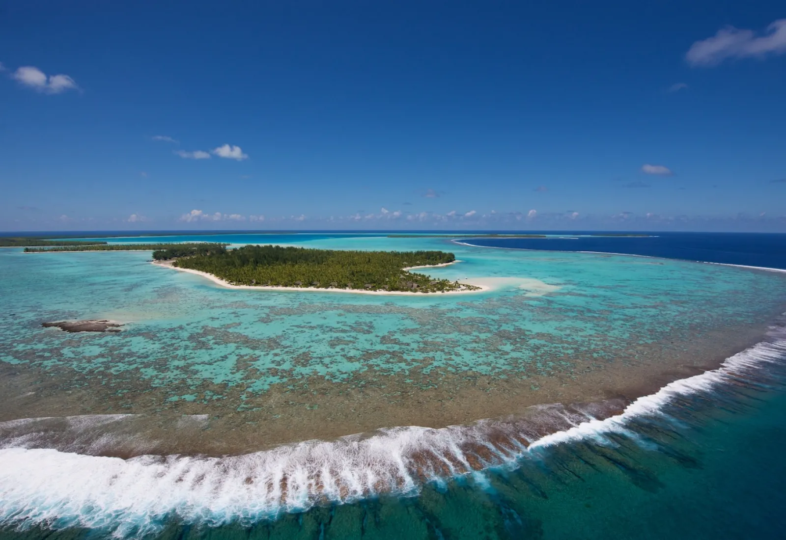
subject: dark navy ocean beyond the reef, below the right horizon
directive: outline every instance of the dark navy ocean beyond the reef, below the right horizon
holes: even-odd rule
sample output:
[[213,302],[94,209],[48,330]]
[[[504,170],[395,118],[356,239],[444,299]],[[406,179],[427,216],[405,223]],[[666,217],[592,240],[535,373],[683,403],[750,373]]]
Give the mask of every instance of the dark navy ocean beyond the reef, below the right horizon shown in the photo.
[[[586,234],[586,233],[585,233]],[[471,238],[473,246],[519,250],[600,251],[727,265],[786,268],[786,234],[653,232],[647,237]]]

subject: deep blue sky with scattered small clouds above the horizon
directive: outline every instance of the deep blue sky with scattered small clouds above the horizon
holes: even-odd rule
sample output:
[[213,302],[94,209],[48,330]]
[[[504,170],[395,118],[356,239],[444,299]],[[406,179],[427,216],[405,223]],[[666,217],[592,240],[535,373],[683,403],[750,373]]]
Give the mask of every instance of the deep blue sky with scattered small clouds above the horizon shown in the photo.
[[0,230],[786,232],[782,2],[539,3],[5,2]]

